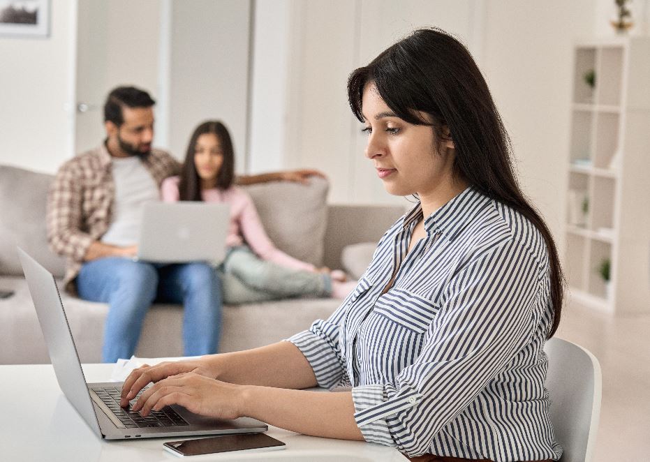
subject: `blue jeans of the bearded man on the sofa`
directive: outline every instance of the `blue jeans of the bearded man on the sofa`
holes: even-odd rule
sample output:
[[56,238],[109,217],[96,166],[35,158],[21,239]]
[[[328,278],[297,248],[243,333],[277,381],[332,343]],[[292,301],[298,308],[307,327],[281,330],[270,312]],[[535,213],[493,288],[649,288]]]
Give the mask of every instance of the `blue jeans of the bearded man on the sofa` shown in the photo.
[[82,299],[108,303],[103,362],[130,358],[154,301],[183,304],[186,356],[208,355],[219,346],[221,281],[208,264],[153,264],[128,258],[85,263],[77,276]]

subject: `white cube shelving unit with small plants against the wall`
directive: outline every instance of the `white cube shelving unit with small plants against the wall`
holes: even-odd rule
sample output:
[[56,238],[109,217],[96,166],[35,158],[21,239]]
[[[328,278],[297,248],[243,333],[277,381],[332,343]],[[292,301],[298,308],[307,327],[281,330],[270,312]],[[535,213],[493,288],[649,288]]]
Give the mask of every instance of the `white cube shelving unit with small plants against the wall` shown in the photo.
[[[565,227],[570,297],[650,313],[650,38],[575,47]],[[593,70],[595,86],[584,75]],[[609,288],[598,268],[610,260]]]

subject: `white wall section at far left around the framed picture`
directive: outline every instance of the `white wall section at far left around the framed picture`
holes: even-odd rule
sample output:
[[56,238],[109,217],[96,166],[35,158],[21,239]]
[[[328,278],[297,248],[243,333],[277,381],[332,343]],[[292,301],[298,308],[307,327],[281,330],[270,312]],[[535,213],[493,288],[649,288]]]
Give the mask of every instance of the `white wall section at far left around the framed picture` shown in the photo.
[[0,163],[54,172],[73,152],[66,104],[75,0],[50,6],[49,38],[0,37]]

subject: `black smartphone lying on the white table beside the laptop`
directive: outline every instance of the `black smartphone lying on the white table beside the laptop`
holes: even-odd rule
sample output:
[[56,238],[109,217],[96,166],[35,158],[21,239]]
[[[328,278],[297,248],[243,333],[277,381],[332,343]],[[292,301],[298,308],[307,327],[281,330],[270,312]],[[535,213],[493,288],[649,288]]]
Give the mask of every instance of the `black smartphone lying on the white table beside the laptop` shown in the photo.
[[285,449],[286,444],[264,433],[238,433],[198,440],[170,441],[165,442],[163,447],[182,457],[231,451],[273,451]]

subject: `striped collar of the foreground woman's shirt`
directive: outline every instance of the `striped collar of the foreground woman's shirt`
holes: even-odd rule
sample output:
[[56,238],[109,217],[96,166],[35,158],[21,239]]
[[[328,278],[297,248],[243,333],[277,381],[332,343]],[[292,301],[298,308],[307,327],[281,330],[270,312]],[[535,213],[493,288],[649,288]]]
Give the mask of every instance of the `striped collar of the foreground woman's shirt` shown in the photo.
[[[468,223],[473,221],[475,216],[480,214],[485,207],[489,207],[491,202],[492,200],[486,195],[483,195],[472,186],[468,186],[459,195],[429,215],[424,220],[424,230],[429,235],[434,233],[445,234],[452,241]],[[417,222],[421,218],[422,204],[418,202],[404,216],[402,223],[404,230],[411,227],[414,222]]]

